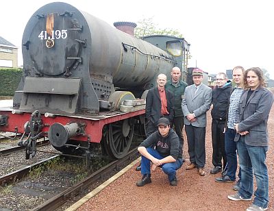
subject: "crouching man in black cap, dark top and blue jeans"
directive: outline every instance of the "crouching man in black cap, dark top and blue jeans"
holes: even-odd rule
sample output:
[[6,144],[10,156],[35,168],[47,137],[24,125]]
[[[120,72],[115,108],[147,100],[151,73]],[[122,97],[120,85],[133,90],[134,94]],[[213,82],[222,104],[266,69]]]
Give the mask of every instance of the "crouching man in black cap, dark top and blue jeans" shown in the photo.
[[158,131],[151,134],[138,147],[142,155],[142,179],[136,186],[151,183],[151,171],[154,171],[156,166],[161,167],[168,175],[171,186],[177,186],[176,170],[183,164],[182,147],[179,146],[179,138],[171,128],[169,119],[160,118]]

